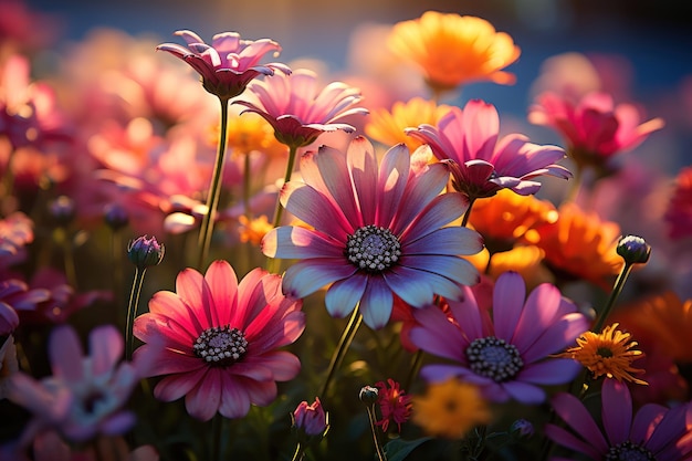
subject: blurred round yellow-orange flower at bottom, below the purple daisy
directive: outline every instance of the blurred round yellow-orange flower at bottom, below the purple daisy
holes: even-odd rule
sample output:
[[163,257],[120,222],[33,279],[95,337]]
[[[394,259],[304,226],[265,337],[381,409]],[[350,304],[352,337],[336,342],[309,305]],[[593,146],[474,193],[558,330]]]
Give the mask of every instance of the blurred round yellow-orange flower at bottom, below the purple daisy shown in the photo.
[[412,405],[412,421],[434,437],[461,439],[491,419],[478,386],[457,378],[431,384],[424,396],[413,397]]

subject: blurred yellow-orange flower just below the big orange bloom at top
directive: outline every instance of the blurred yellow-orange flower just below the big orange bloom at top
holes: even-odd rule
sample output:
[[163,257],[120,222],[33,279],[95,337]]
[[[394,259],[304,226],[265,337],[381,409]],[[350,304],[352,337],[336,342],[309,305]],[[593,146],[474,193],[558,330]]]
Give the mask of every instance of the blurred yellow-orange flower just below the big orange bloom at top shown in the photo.
[[403,133],[405,128],[418,127],[421,124],[437,125],[442,115],[450,111],[448,105],[437,105],[434,101],[413,97],[408,103],[397,102],[391,112],[379,108],[370,113],[370,121],[365,133],[373,139],[387,146],[406,144],[412,153],[422,142]]

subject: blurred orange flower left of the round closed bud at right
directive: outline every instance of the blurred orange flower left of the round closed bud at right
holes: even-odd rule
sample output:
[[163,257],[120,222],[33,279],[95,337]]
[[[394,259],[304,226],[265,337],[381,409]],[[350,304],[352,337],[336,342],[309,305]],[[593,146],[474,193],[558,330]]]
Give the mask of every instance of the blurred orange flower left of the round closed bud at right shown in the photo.
[[619,237],[616,222],[601,221],[569,202],[558,209],[555,222],[531,229],[524,240],[545,251],[545,261],[558,277],[583,279],[609,290],[623,264],[616,250]]

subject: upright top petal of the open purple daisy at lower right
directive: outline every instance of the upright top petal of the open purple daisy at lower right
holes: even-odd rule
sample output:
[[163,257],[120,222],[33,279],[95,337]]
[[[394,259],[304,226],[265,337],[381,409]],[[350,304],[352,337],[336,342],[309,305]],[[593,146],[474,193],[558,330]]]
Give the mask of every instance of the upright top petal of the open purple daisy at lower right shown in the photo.
[[497,277],[493,290],[493,321],[495,335],[512,342],[526,298],[526,284],[516,272],[505,272]]

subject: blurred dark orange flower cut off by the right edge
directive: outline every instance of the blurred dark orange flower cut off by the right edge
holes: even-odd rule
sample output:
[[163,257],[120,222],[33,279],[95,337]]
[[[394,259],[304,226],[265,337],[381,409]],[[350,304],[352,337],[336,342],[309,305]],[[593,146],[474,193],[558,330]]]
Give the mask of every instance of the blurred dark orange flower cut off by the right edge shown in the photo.
[[692,300],[667,292],[623,310],[622,324],[660,346],[674,362],[692,363]]

